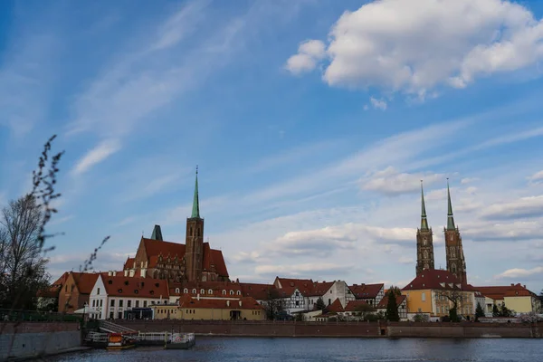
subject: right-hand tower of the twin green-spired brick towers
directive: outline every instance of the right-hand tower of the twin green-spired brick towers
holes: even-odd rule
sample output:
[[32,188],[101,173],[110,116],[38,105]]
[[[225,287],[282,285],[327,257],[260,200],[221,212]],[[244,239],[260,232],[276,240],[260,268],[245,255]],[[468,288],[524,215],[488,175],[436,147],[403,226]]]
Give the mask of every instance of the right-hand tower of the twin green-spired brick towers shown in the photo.
[[454,225],[452,216],[451,191],[449,189],[449,180],[447,179],[447,227],[443,230],[445,233],[445,251],[447,258],[447,271],[456,275],[462,283],[468,282],[466,274],[466,262],[463,255],[462,236],[460,230]]

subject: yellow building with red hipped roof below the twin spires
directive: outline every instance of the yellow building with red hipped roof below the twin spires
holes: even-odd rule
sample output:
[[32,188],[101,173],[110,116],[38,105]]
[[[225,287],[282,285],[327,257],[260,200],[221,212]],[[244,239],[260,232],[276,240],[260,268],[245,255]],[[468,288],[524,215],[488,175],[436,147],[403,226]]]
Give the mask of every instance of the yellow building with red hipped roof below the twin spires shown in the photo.
[[448,316],[457,300],[459,316],[472,319],[475,314],[475,292],[449,271],[424,270],[402,290],[407,300],[407,313],[424,313],[432,319]]

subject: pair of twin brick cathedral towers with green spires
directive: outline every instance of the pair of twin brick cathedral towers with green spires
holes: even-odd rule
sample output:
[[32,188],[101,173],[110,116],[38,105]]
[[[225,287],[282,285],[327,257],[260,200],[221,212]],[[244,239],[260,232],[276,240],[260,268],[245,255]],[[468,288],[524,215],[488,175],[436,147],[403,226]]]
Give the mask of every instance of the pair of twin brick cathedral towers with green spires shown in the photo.
[[[416,231],[416,275],[421,274],[424,270],[433,270],[433,232],[428,226],[426,217],[426,206],[424,205],[424,189],[421,182],[421,227]],[[454,224],[454,216],[452,214],[451,190],[447,181],[447,226],[443,229],[445,236],[445,255],[447,260],[447,271],[452,272],[462,284],[467,284],[468,278],[466,274],[466,262],[463,254],[462,236],[460,230]]]

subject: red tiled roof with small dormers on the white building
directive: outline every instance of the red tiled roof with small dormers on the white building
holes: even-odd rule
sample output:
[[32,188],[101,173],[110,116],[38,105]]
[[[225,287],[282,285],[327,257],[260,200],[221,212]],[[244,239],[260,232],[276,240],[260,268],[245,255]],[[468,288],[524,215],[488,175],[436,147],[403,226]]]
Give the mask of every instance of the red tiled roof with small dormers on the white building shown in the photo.
[[106,292],[115,297],[139,297],[167,299],[168,286],[166,280],[152,278],[130,278],[101,274]]

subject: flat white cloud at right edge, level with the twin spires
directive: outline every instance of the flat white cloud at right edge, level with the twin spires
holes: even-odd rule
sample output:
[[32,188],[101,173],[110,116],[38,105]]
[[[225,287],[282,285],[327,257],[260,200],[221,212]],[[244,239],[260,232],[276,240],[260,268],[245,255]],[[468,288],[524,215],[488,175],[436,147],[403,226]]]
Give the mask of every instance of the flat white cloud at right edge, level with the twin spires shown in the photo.
[[490,205],[481,213],[488,219],[533,217],[543,214],[543,195],[521,197],[517,200]]

